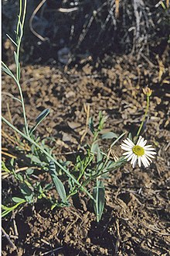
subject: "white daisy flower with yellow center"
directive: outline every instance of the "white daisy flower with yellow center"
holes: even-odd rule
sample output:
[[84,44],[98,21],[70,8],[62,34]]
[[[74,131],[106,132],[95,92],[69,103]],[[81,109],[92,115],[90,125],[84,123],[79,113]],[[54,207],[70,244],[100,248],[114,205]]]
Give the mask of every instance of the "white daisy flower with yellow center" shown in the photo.
[[124,143],[121,144],[121,148],[123,150],[126,150],[123,155],[125,155],[125,159],[127,161],[131,160],[132,167],[136,165],[138,161],[139,167],[141,167],[141,164],[144,164],[145,168],[150,165],[151,158],[155,158],[153,155],[156,154],[155,149],[151,146],[145,146],[147,144],[147,140],[145,140],[143,137],[139,137],[138,142],[136,145],[127,138],[126,140],[123,140]]

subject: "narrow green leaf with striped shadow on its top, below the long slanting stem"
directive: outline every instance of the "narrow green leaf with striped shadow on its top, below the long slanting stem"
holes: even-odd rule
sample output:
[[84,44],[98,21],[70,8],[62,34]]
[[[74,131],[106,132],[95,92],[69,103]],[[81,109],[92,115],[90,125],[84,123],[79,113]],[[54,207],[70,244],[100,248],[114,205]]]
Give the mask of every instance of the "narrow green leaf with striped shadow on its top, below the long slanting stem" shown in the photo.
[[53,161],[49,162],[49,175],[53,180],[53,184],[56,187],[56,191],[59,193],[59,197],[62,202],[66,202],[66,190],[63,183],[59,180],[56,173],[56,164]]

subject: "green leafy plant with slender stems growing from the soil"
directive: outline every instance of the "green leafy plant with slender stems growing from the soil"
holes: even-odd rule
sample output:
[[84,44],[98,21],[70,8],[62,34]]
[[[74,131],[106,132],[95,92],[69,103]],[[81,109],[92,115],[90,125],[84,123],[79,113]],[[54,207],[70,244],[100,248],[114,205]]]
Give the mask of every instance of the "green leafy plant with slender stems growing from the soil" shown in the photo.
[[[104,128],[106,117],[99,113],[98,123],[93,123],[93,118],[89,119],[89,129],[93,135],[92,144],[87,145],[86,151],[83,156],[78,155],[76,162],[70,164],[69,161],[63,162],[60,159],[56,160],[53,156],[53,148],[49,148],[46,145],[46,139],[41,140],[41,137],[36,137],[34,132],[36,127],[42,123],[42,120],[49,114],[49,109],[44,109],[36,118],[36,124],[32,127],[28,126],[28,120],[26,118],[25,103],[22,95],[22,85],[20,84],[21,77],[21,64],[20,64],[20,47],[22,42],[22,36],[24,31],[24,22],[26,17],[26,0],[22,6],[22,0],[19,0],[20,9],[18,22],[16,26],[16,39],[13,40],[10,36],[8,38],[14,43],[16,51],[14,52],[14,60],[16,71],[15,74],[2,62],[2,70],[8,74],[19,88],[18,100],[22,105],[22,116],[24,119],[24,131],[19,130],[12,123],[8,122],[5,117],[2,116],[2,121],[10,126],[15,133],[18,133],[22,138],[26,139],[30,146],[29,154],[26,154],[26,159],[29,159],[31,166],[26,169],[25,172],[15,171],[15,161],[12,159],[10,166],[7,168],[5,163],[2,162],[2,168],[8,175],[13,175],[15,182],[19,187],[19,196],[12,197],[12,202],[15,202],[13,206],[2,206],[2,216],[6,216],[11,213],[13,209],[16,209],[24,203],[35,203],[39,199],[46,199],[51,202],[51,209],[63,206],[69,206],[69,199],[77,192],[85,192],[89,198],[93,201],[93,208],[97,216],[97,222],[100,221],[104,212],[105,204],[105,188],[104,182],[110,171],[120,168],[126,160],[124,157],[117,157],[114,154],[114,145],[121,140],[121,137],[125,133],[122,133],[119,137],[114,132],[101,134]],[[147,95],[147,102],[149,104],[149,96]],[[141,132],[141,127],[144,124],[145,117],[148,112],[148,105],[145,111],[144,119],[142,119],[141,126],[138,130],[137,137]],[[108,152],[104,152],[100,147],[100,140],[113,140]],[[113,156],[111,157],[111,152]],[[42,171],[43,175],[49,175],[52,182],[38,181],[36,173],[32,168],[32,164],[36,165]],[[52,190],[56,189],[59,198],[53,195]]]

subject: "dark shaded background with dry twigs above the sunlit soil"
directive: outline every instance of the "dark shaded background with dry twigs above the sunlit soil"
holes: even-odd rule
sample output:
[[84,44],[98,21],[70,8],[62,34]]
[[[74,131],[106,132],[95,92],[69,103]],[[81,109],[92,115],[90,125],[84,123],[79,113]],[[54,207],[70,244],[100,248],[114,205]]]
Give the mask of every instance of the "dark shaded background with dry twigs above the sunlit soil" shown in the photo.
[[[35,13],[40,3],[28,1],[24,63],[75,64],[90,56],[97,61],[104,54],[160,56],[169,40],[169,9],[150,0],[46,0]],[[5,60],[8,57],[5,34],[15,39],[18,5],[17,0],[2,2]]]

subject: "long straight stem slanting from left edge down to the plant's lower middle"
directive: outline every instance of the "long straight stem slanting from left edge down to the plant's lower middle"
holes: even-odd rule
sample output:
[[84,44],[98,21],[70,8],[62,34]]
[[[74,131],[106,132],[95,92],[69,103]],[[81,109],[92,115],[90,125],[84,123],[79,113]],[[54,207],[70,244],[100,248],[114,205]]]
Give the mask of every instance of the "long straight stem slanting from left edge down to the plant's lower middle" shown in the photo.
[[90,195],[90,192],[87,191],[87,189],[83,188],[83,186],[76,181],[76,178],[74,178],[73,175],[70,174],[69,171],[67,171],[65,168],[63,168],[63,166],[61,164],[59,164],[58,161],[56,161],[55,158],[53,158],[48,152],[46,152],[46,150],[44,150],[41,146],[39,146],[39,144],[37,144],[34,140],[32,140],[29,136],[27,136],[25,133],[22,133],[20,130],[18,130],[15,126],[12,125],[12,123],[9,123],[7,119],[5,119],[5,117],[2,116],[2,121],[4,121],[8,126],[10,126],[13,130],[15,130],[17,133],[19,133],[22,137],[24,137],[26,140],[29,140],[29,142],[31,144],[34,144],[36,147],[38,147],[44,154],[46,154],[47,157],[49,157],[57,166],[59,166],[59,168],[61,168],[68,177],[70,177],[75,183],[76,185],[78,185],[83,192],[86,192],[87,195],[89,195],[90,199],[93,199],[93,201],[95,202],[96,200],[93,198],[92,195]]

